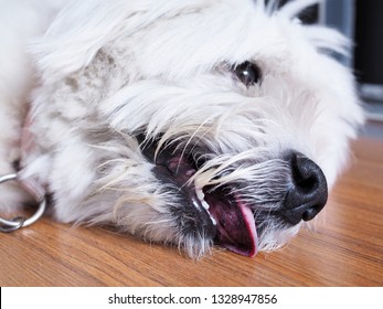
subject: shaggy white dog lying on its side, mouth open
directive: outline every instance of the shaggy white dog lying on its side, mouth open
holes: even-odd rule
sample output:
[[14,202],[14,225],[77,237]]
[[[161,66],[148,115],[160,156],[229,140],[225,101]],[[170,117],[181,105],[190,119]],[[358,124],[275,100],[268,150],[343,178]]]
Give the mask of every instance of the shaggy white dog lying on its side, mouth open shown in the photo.
[[254,256],[325,206],[363,117],[316,1],[65,2],[0,2],[0,174],[56,220]]

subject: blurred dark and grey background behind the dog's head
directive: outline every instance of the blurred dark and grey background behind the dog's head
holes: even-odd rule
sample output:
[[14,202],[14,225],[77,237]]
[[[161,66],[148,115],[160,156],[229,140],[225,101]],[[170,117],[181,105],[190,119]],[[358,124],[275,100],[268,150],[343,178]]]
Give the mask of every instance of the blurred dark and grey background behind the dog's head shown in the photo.
[[383,139],[383,0],[327,0],[304,11],[300,19],[337,28],[352,40],[351,57],[336,56],[357,76],[368,116],[361,135]]

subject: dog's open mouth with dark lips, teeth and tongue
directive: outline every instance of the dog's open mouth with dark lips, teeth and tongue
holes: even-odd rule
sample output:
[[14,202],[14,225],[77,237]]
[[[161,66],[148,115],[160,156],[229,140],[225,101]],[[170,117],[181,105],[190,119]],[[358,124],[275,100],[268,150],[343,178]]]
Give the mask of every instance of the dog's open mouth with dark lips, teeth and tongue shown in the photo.
[[251,206],[235,193],[235,185],[198,188],[191,178],[201,162],[191,152],[167,145],[158,153],[158,140],[147,142],[137,137],[142,154],[155,164],[156,177],[181,196],[182,209],[175,217],[184,233],[205,235],[221,247],[253,257],[257,253],[258,236]]

